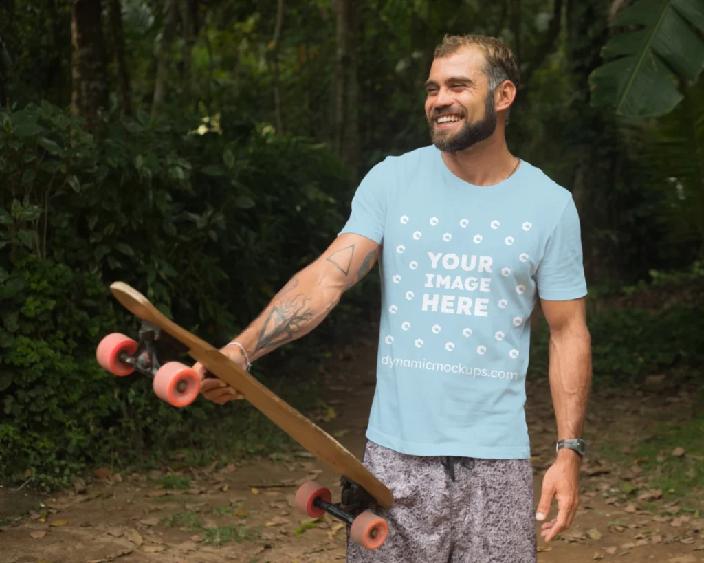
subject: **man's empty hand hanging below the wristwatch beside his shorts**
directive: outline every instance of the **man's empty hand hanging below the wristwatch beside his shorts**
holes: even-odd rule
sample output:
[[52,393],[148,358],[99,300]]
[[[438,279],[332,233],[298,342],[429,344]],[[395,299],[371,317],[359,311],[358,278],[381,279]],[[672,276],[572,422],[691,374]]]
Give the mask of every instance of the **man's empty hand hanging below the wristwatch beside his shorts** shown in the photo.
[[579,467],[582,459],[573,450],[562,449],[558,459],[543,477],[543,491],[536,519],[544,520],[550,512],[553,498],[558,501],[558,516],[542,526],[540,535],[549,542],[572,526],[574,513],[579,507]]

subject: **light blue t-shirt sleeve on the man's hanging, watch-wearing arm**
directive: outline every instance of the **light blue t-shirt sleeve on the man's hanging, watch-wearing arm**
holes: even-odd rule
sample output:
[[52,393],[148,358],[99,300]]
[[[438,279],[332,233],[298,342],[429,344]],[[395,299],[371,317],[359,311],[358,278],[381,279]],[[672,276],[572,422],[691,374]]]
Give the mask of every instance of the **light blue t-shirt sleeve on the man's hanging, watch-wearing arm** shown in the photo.
[[548,238],[536,282],[540,298],[548,301],[567,301],[586,295],[582,235],[572,197]]

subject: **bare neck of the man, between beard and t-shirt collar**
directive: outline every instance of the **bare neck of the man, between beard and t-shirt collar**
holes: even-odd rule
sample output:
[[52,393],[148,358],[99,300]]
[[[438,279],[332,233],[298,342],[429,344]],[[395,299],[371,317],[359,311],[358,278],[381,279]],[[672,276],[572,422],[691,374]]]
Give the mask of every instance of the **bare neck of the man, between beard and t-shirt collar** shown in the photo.
[[492,135],[465,151],[442,153],[448,169],[475,186],[493,186],[515,171],[518,160],[508,150],[504,137]]

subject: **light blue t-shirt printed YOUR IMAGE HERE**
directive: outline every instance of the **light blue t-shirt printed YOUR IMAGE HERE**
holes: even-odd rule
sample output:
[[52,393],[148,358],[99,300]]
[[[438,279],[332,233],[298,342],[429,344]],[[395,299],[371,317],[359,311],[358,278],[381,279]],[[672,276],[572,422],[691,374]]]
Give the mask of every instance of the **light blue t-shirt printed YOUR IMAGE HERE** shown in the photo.
[[367,438],[410,455],[530,457],[531,312],[539,297],[586,295],[570,192],[525,161],[468,184],[427,146],[370,170],[343,233],[382,244]]

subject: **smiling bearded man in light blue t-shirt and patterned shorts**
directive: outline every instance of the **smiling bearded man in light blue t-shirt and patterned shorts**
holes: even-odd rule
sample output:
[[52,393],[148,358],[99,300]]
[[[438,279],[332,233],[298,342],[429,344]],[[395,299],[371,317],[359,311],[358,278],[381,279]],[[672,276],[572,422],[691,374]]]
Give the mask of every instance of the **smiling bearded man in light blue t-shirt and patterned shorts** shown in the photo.
[[[446,37],[425,84],[433,144],[372,168],[339,237],[223,348],[249,367],[316,327],[379,259],[363,461],[395,503],[379,512],[384,545],[348,542],[348,562],[534,563],[534,518],[557,500],[541,529],[550,541],[579,505],[591,381],[579,217],[569,191],[508,151],[518,82],[513,53],[496,39]],[[534,512],[524,386],[538,299],[560,448]],[[218,379],[202,389],[215,403],[241,398]]]

